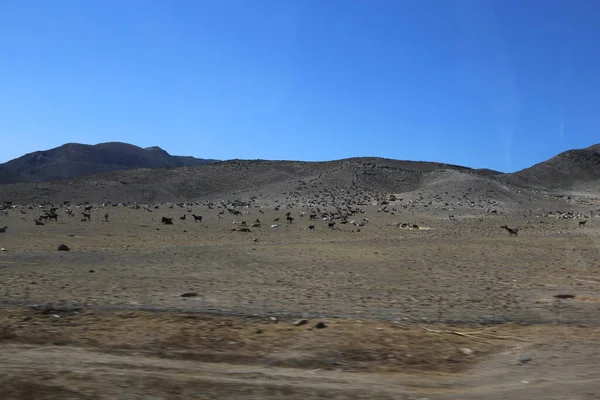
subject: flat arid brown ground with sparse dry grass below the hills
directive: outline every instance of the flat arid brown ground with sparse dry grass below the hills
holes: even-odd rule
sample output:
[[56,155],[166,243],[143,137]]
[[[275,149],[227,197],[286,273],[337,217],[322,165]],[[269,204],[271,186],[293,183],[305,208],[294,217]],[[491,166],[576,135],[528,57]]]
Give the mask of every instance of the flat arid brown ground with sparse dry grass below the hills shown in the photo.
[[0,398],[600,398],[590,202],[367,205],[333,228],[309,208],[157,207],[0,217]]

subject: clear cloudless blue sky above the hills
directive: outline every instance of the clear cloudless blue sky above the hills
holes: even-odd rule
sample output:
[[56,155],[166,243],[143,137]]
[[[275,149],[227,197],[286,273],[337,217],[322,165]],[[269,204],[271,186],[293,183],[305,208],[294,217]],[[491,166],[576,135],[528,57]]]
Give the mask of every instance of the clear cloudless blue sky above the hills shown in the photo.
[[596,0],[0,0],[0,162],[66,142],[514,171],[600,142]]

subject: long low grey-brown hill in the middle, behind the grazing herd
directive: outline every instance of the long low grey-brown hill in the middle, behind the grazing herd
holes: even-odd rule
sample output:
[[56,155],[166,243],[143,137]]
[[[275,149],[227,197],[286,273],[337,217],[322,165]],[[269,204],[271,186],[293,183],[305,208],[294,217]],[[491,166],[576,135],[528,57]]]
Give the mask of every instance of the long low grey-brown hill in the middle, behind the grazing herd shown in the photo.
[[[0,186],[0,200],[151,204],[241,200],[282,207],[383,205],[441,214],[519,208],[527,190],[457,165],[383,158],[327,162],[229,160],[205,166],[113,171]],[[466,215],[466,214],[463,214]]]

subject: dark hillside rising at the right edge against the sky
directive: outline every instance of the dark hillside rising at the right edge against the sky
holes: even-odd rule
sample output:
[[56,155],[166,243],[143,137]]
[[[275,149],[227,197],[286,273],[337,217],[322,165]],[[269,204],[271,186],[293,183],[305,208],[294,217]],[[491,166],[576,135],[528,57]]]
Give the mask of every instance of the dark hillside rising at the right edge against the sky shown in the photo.
[[510,183],[540,189],[600,189],[600,144],[568,150],[549,160],[503,176]]

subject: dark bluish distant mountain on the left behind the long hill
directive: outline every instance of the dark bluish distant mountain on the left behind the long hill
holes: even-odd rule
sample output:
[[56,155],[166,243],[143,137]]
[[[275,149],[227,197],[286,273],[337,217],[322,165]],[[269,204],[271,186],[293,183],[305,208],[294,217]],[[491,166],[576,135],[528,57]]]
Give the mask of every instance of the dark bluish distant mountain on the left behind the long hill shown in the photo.
[[99,172],[138,168],[206,165],[216,161],[172,156],[156,146],[143,149],[120,142],[96,145],[67,143],[0,164],[0,185],[69,179]]

